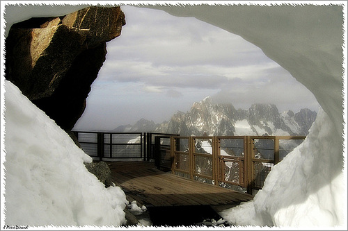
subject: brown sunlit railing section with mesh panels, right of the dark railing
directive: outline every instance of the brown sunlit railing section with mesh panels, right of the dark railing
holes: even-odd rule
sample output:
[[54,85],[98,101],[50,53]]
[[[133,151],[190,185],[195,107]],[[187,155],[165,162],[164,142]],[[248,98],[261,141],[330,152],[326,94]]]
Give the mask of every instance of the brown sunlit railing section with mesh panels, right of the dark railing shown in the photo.
[[252,194],[304,136],[171,137],[172,173]]

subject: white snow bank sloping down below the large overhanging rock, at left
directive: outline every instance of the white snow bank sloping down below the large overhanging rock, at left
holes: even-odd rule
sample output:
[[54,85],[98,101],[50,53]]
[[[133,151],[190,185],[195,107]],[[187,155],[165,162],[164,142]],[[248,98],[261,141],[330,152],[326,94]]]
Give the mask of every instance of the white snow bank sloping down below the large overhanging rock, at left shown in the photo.
[[6,225],[121,225],[127,200],[89,173],[92,159],[5,81]]

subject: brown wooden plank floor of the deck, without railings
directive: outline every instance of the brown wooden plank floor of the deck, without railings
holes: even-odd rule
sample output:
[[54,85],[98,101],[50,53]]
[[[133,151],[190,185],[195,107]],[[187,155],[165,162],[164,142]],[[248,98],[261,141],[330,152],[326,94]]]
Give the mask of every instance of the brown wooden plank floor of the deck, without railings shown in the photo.
[[156,169],[153,162],[107,162],[113,182],[127,200],[145,206],[238,205],[253,199],[249,194],[196,182]]

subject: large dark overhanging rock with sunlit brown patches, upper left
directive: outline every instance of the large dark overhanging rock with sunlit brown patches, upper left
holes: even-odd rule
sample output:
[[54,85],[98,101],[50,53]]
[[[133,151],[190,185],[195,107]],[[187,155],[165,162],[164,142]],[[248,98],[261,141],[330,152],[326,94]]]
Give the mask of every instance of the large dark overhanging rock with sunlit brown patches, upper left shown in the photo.
[[58,126],[71,130],[105,61],[106,42],[124,25],[120,7],[97,6],[14,24],[6,38],[5,77]]

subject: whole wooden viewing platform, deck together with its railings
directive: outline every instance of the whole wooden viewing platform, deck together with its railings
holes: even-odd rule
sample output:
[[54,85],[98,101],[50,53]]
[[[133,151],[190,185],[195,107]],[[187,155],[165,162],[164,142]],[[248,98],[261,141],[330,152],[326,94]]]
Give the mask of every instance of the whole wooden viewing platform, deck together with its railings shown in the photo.
[[[306,139],[152,132],[75,135],[93,160],[109,165],[112,181],[129,203],[145,205],[155,226],[223,221],[219,212],[252,200],[272,167]],[[130,220],[137,224],[137,219]]]

